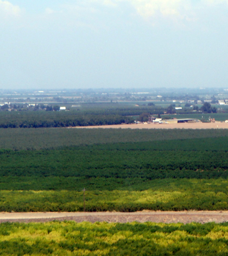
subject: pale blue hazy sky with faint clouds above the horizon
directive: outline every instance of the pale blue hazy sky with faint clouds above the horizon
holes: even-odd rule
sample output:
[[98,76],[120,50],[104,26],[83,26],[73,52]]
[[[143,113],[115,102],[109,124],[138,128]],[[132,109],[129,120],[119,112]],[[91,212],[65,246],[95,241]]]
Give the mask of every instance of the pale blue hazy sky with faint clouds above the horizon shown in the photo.
[[0,89],[228,88],[228,0],[0,0]]

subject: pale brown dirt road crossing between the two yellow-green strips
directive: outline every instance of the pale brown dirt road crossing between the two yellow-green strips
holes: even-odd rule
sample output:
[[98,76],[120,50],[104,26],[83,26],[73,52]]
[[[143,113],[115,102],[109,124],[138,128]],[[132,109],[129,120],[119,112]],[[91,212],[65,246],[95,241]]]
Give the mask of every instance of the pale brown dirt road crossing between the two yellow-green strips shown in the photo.
[[227,222],[228,211],[141,211],[141,212],[1,212],[2,222],[48,222],[48,221],[76,221],[76,222]]

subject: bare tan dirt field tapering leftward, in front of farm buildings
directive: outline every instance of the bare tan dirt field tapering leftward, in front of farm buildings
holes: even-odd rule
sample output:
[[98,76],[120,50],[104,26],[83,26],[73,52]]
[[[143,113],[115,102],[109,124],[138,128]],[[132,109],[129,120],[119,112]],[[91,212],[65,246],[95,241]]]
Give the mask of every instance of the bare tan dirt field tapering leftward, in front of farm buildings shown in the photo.
[[100,126],[77,126],[71,128],[113,128],[113,129],[228,129],[228,123],[179,123],[179,124],[120,124],[120,125],[100,125]]

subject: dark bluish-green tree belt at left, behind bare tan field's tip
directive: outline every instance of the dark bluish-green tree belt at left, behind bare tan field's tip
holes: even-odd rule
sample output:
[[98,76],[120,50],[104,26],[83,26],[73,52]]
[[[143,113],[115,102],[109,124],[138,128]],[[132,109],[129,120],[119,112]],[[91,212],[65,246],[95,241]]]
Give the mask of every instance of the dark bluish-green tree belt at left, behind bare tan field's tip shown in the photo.
[[[56,106],[54,107],[58,110]],[[52,106],[47,106],[46,110],[46,112],[0,112],[0,128],[74,127],[134,122],[131,117],[118,113],[54,112]]]

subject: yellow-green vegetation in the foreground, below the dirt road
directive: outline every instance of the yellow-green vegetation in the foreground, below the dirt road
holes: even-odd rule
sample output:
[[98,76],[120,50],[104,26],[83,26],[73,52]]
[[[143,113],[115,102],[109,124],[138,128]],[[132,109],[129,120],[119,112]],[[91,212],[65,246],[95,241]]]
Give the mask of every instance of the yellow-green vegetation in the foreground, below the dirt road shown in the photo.
[[228,224],[2,223],[0,255],[228,255]]

